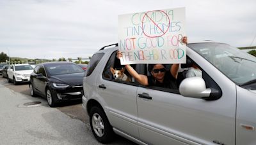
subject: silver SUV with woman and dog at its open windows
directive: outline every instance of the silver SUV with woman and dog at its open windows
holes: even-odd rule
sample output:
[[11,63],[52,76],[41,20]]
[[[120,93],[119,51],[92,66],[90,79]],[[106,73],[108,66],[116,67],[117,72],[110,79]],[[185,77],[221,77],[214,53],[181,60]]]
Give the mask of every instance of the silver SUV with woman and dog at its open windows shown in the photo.
[[[97,141],[111,142],[115,133],[138,144],[256,144],[255,57],[223,43],[190,43],[187,62],[202,78],[169,89],[114,79],[116,50],[96,52],[83,79],[83,109]],[[150,75],[147,64],[132,67]]]

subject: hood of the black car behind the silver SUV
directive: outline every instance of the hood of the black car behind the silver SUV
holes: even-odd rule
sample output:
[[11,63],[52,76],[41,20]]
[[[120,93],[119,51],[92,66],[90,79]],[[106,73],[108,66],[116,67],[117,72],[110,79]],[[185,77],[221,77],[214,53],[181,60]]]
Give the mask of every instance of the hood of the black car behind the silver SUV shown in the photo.
[[[60,74],[51,76],[53,83],[66,83],[70,86],[83,85],[84,72],[74,73],[74,74]],[[54,81],[54,79],[58,81]]]

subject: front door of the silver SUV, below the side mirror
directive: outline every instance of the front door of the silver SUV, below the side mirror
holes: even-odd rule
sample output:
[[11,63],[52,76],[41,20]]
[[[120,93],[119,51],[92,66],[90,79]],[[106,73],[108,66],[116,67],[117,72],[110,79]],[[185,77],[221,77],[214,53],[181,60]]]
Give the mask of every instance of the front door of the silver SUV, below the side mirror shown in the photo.
[[235,144],[236,85],[200,55],[188,54],[203,69],[207,88],[221,90],[220,99],[196,99],[177,90],[139,87],[137,95],[148,97],[137,97],[141,139],[150,144]]

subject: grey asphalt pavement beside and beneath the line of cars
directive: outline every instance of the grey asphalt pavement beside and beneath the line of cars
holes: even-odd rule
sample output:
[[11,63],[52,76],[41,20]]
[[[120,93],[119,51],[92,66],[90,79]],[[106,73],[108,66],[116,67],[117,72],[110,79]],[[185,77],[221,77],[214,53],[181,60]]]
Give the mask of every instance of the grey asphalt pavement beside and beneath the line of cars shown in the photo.
[[[93,137],[81,101],[52,108],[42,97],[31,97],[28,83],[13,85],[0,76],[0,86],[0,139],[3,144],[100,144]],[[29,102],[41,103],[25,106]],[[116,137],[112,144],[134,143]]]

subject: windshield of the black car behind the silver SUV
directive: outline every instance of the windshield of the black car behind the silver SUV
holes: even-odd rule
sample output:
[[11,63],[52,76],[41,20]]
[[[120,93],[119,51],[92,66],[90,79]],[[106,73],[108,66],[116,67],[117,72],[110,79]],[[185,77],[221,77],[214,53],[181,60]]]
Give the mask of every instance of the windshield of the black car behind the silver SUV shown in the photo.
[[51,76],[84,72],[83,69],[76,64],[47,64],[45,68]]

